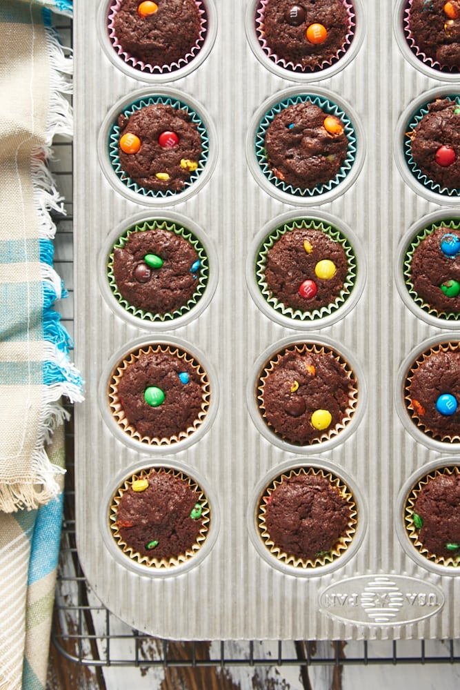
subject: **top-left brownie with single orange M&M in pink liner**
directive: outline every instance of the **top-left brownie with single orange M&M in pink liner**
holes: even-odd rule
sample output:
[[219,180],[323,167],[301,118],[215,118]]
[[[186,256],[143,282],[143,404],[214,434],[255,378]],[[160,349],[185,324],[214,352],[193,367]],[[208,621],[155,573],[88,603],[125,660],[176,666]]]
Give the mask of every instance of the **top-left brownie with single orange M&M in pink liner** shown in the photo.
[[[142,4],[146,12],[142,12]],[[197,45],[201,16],[195,0],[122,0],[112,19],[112,31],[123,52],[144,64],[162,67],[178,63]]]

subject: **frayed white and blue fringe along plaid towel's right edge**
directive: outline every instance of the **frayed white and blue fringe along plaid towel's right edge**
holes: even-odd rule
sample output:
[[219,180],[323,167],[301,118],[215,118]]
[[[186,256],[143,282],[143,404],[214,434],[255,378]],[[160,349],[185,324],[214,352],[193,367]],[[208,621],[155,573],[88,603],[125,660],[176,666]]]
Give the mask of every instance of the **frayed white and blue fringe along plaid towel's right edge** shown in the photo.
[[[61,3],[66,5],[68,3]],[[34,187],[34,204],[37,208],[39,235],[41,237],[41,267],[43,281],[43,338],[45,340],[43,361],[43,408],[41,410],[40,429],[35,444],[32,469],[35,483],[18,482],[0,486],[1,510],[7,513],[19,509],[35,509],[56,497],[61,486],[58,475],[65,470],[53,464],[46,453],[46,444],[50,442],[57,426],[68,419],[69,413],[63,406],[62,399],[70,402],[83,400],[83,382],[77,368],[70,361],[69,351],[72,341],[61,324],[61,316],[54,310],[54,302],[66,296],[61,279],[52,268],[52,239],[56,226],[51,212],[62,213],[63,198],[57,191],[52,173],[46,162],[52,158],[52,141],[56,135],[72,137],[72,107],[66,98],[72,92],[72,58],[63,53],[56,32],[50,26],[43,12],[46,23],[46,39],[50,58],[50,108],[48,115],[46,140],[42,146],[32,152],[31,172]]]

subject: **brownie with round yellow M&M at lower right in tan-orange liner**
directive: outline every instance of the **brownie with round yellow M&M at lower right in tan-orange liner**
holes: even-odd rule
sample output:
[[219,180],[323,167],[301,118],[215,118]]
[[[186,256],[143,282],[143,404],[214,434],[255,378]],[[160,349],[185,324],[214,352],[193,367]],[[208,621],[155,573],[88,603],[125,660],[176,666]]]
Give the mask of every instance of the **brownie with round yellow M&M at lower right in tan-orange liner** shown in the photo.
[[291,347],[261,375],[259,404],[283,440],[306,446],[328,439],[350,420],[357,382],[338,355],[316,346]]

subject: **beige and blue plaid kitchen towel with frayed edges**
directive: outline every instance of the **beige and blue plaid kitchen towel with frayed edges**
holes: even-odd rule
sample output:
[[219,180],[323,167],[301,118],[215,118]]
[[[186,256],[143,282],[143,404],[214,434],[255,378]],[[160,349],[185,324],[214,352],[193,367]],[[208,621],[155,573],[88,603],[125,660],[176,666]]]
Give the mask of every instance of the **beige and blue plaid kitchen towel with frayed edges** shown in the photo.
[[[46,685],[62,517],[62,398],[81,400],[70,339],[54,311],[46,166],[71,135],[71,60],[51,0],[0,0],[0,689]],[[69,12],[70,3],[55,1]]]

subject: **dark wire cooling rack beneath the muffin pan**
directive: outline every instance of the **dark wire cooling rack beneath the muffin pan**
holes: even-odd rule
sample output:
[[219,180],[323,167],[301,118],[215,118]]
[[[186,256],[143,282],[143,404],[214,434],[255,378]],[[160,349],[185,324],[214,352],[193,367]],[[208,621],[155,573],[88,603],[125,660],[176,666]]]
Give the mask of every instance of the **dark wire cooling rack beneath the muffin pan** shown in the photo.
[[[56,26],[64,46],[72,47],[72,23]],[[57,216],[54,265],[68,293],[59,304],[63,325],[73,336],[72,143],[57,137],[50,168],[65,201]],[[343,667],[350,664],[454,664],[460,640],[393,642],[233,641],[174,642],[141,633],[121,622],[94,595],[79,563],[75,544],[72,407],[66,427],[66,489],[52,627],[52,642],[63,657],[86,667]],[[302,675],[302,672],[301,672]],[[309,687],[307,683],[305,687]]]

